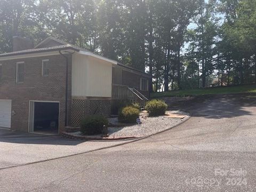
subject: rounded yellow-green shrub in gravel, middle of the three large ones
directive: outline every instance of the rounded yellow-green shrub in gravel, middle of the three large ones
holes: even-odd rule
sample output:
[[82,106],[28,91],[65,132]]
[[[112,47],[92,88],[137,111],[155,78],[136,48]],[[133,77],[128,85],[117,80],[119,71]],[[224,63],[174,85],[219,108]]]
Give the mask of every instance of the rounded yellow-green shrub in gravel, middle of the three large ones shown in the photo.
[[122,123],[136,123],[140,116],[140,110],[134,107],[124,107],[119,110],[118,120]]

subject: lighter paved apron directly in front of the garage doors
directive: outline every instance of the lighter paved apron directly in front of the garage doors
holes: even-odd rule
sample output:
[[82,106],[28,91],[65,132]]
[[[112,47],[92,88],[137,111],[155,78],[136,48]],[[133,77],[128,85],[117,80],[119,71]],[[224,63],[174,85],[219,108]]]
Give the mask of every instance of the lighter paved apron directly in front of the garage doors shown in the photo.
[[76,141],[63,139],[60,136],[0,130],[0,169],[85,153],[119,145],[123,142],[125,141]]

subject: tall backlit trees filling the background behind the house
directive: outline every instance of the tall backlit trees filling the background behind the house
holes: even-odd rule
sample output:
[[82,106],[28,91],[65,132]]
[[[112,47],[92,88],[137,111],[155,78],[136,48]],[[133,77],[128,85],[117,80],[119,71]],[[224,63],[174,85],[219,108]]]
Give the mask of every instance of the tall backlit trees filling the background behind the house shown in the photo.
[[256,82],[256,0],[0,0],[1,53],[15,35],[146,69],[153,91]]

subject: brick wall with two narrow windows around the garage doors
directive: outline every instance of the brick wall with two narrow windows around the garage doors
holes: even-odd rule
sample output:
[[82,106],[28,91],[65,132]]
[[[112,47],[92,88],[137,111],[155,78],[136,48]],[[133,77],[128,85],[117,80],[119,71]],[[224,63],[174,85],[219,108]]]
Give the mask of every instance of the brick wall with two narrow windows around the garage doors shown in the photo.
[[[50,74],[42,77],[42,60],[49,59]],[[25,80],[16,83],[16,62],[25,62]],[[60,102],[60,131],[65,127],[66,59],[61,55],[0,61],[0,99],[12,100],[11,129],[28,131],[29,100]],[[71,55],[69,55],[68,114],[71,113]]]

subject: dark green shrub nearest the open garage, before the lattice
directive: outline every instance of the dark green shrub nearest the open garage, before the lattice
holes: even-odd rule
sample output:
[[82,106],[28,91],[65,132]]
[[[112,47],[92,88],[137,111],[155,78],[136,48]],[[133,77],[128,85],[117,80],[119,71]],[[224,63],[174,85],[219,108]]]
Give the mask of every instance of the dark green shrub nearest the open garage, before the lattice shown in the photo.
[[108,125],[107,118],[103,116],[88,116],[81,122],[81,132],[85,135],[102,134],[104,125]]

